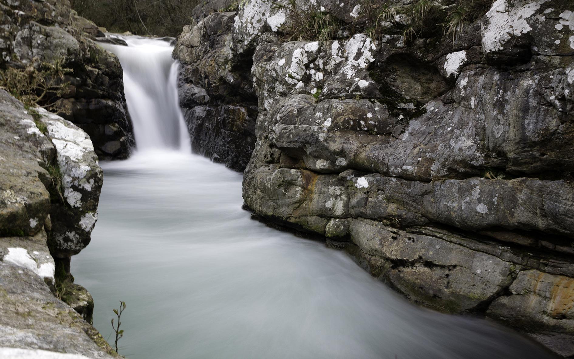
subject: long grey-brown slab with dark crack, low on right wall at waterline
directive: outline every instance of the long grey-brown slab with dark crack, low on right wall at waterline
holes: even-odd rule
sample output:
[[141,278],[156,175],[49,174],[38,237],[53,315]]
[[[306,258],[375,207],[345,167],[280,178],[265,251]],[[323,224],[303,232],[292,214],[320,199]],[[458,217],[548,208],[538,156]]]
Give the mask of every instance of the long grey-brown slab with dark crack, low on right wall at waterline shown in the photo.
[[351,239],[359,256],[413,302],[448,313],[476,311],[512,283],[515,266],[437,237],[409,233],[377,221],[356,219]]

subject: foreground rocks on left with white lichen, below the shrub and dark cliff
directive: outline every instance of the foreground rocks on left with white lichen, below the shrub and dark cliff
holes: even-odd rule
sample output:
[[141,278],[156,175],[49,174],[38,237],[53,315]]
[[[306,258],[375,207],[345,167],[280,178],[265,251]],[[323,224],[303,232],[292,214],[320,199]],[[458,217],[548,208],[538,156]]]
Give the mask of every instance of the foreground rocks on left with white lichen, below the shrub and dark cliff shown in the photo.
[[4,90],[0,127],[0,356],[116,357],[88,323],[90,294],[69,280],[69,257],[90,241],[102,186],[90,137]]

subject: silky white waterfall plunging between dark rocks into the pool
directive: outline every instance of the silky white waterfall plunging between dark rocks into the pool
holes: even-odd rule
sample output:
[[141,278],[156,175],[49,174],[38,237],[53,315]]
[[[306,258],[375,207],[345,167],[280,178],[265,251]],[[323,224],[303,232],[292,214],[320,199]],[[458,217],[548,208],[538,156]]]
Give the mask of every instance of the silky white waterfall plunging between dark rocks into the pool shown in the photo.
[[179,106],[173,46],[165,38],[121,36],[127,46],[100,44],[114,53],[123,68],[127,110],[137,151],[172,149],[189,152],[189,135]]

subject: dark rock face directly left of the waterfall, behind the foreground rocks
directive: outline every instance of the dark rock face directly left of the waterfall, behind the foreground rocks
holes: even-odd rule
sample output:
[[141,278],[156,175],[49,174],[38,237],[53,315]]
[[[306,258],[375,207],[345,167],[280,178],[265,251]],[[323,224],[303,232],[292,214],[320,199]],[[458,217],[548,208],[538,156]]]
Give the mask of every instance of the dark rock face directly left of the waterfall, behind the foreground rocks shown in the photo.
[[133,145],[118,59],[94,41],[102,36],[77,16],[68,0],[0,1],[0,69],[71,69],[61,93],[50,93],[51,110],[86,131],[101,158],[126,158]]

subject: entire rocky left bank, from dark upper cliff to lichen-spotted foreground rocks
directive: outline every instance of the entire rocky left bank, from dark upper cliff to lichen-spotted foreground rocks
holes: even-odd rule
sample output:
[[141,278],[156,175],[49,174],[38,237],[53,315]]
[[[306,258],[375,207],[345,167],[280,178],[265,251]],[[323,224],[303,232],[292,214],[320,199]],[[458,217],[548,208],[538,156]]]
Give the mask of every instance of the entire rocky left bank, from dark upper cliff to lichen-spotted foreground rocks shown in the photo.
[[118,357],[69,270],[98,218],[98,159],[133,145],[122,68],[67,0],[0,0],[0,22],[0,357]]

